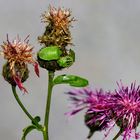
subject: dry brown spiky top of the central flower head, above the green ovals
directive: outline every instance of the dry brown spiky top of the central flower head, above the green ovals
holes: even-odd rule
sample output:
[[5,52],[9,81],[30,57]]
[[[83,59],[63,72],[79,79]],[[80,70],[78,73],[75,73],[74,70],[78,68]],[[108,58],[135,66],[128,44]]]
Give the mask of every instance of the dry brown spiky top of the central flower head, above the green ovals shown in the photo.
[[42,22],[47,23],[47,26],[43,36],[38,38],[40,43],[46,46],[58,45],[62,48],[72,44],[69,27],[75,19],[71,18],[69,9],[57,9],[50,6],[49,12],[43,13],[41,17]]

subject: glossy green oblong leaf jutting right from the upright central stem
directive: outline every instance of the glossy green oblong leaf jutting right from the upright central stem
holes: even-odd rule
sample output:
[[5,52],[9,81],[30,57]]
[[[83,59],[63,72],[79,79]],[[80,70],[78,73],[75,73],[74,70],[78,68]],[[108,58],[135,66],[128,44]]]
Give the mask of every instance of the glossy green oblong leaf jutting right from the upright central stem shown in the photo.
[[54,84],[69,84],[74,87],[85,87],[88,80],[76,75],[59,75],[54,79]]

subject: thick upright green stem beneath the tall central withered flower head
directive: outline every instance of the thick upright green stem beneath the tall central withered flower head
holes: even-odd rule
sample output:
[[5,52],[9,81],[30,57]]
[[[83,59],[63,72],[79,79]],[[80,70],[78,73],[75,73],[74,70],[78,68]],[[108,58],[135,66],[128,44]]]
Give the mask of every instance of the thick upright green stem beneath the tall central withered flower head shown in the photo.
[[54,72],[53,71],[48,71],[48,95],[47,95],[45,120],[44,120],[44,126],[46,128],[46,133],[47,133],[47,139],[44,139],[44,140],[49,140],[48,126],[49,126],[49,113],[50,113],[50,105],[51,105],[51,95],[52,95],[52,88],[53,88],[53,78],[54,78]]

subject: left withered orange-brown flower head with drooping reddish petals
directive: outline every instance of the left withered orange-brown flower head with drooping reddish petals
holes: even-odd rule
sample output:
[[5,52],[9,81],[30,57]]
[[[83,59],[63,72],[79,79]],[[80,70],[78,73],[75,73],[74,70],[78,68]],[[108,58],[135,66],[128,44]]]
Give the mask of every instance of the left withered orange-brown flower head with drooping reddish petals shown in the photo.
[[33,47],[28,44],[28,37],[23,42],[19,37],[10,42],[7,35],[7,41],[1,45],[2,55],[7,60],[3,67],[3,76],[6,81],[12,85],[18,85],[24,92],[27,90],[23,87],[22,82],[28,78],[28,63],[34,66],[35,72],[39,76],[38,63],[33,59]]

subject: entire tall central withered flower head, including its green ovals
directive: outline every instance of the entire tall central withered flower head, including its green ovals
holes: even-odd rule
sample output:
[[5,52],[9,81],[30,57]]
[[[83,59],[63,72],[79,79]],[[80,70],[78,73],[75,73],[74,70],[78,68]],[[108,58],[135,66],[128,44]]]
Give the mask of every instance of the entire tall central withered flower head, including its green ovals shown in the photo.
[[[74,58],[70,56],[72,50],[66,47],[72,45],[69,28],[72,21],[75,20],[71,18],[71,11],[50,6],[49,12],[45,12],[41,17],[42,22],[46,23],[46,30],[42,36],[38,37],[40,44],[43,44],[43,48],[39,50],[37,56],[39,65],[51,71],[70,67]],[[48,49],[45,50],[45,48]],[[43,53],[43,57],[40,55],[41,53]],[[51,59],[48,59],[50,56]]]

